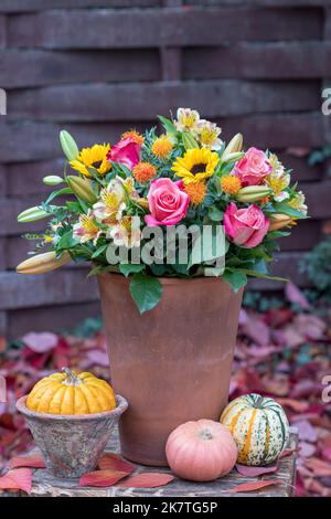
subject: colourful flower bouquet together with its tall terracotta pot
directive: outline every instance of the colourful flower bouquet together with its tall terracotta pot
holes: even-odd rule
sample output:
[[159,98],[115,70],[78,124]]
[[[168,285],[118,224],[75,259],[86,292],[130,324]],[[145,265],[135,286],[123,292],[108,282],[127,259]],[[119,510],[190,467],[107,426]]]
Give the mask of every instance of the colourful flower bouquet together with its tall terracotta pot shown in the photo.
[[122,447],[151,464],[162,463],[167,434],[185,419],[220,416],[243,287],[248,276],[273,278],[277,240],[307,216],[276,155],[244,151],[241,134],[226,145],[221,128],[189,108],[159,118],[161,135],[129,130],[114,146],[79,150],[62,131],[64,174],[43,179],[56,190],[18,218],[49,219],[43,234],[26,235],[39,242],[19,273],[92,264],[113,383],[130,405]]

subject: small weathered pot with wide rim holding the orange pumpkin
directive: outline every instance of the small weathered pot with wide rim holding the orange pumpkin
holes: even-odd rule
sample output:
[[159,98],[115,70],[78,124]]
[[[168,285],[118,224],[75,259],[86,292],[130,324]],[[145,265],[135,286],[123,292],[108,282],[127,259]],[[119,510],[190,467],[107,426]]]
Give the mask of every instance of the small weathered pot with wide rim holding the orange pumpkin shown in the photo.
[[127,401],[117,394],[117,406],[113,411],[79,415],[45,414],[28,409],[26,398],[18,400],[17,409],[25,416],[47,469],[60,478],[76,478],[95,469],[111,431],[128,407]]

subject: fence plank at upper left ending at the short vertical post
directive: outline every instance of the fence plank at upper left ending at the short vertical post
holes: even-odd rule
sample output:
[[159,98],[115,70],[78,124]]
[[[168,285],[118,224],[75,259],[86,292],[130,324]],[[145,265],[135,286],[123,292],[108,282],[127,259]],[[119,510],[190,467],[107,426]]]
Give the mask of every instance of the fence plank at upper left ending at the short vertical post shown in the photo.
[[84,53],[38,49],[0,51],[2,88],[160,78],[159,54],[153,49],[99,50]]

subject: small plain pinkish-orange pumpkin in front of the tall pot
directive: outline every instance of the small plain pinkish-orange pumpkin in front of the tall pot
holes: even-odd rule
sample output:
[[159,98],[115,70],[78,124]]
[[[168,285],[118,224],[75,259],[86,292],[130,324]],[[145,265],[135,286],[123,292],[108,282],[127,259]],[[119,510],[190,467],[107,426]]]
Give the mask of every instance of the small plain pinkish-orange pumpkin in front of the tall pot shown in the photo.
[[186,422],[168,437],[166,454],[171,469],[192,481],[212,481],[229,473],[237,458],[226,427],[212,420]]

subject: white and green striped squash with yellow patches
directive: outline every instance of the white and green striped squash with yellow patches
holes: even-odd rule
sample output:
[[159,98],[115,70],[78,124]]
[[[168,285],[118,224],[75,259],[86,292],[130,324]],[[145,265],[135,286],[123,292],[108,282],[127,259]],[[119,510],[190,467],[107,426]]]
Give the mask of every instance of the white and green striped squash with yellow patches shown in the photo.
[[233,400],[220,422],[229,428],[242,465],[264,466],[275,462],[288,441],[289,425],[281,405],[259,394]]

